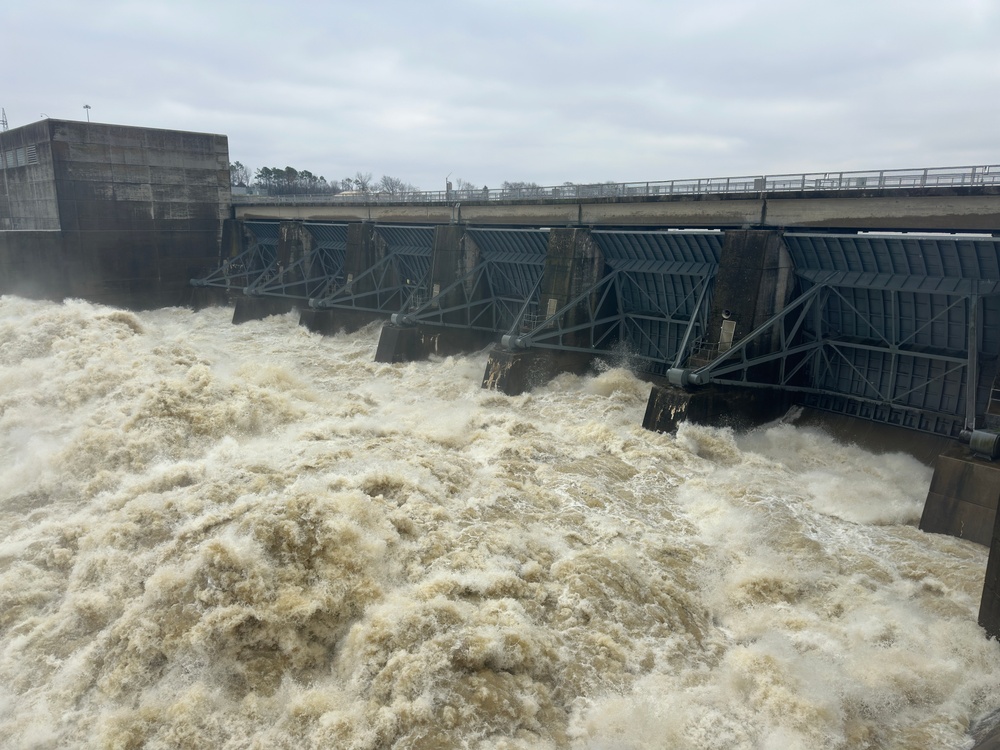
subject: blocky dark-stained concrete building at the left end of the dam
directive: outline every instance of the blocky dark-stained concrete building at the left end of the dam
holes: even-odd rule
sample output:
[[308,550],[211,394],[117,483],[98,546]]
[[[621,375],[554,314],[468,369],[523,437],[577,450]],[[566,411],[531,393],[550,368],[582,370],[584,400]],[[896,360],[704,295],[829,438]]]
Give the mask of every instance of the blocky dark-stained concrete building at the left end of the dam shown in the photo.
[[154,308],[218,265],[224,135],[41,120],[0,133],[0,293]]

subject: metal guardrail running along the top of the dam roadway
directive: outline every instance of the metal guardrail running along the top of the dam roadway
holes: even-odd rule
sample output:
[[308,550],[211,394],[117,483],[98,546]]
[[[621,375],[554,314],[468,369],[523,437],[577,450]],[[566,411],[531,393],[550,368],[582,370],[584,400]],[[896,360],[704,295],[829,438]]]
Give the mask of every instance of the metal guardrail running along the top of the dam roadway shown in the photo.
[[459,203],[462,201],[581,200],[646,196],[769,194],[812,190],[884,190],[1000,186],[1000,165],[882,169],[865,172],[710,177],[697,180],[607,182],[553,187],[473,188],[403,193],[349,191],[336,195],[234,195],[235,205],[275,203]]

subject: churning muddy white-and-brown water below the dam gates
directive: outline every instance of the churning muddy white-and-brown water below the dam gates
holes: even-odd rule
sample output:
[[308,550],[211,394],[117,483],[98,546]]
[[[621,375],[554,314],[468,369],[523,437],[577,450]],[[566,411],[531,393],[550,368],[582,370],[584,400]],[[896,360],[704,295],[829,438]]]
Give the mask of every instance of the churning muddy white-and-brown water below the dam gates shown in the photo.
[[0,298],[0,746],[960,748],[985,548],[818,431]]

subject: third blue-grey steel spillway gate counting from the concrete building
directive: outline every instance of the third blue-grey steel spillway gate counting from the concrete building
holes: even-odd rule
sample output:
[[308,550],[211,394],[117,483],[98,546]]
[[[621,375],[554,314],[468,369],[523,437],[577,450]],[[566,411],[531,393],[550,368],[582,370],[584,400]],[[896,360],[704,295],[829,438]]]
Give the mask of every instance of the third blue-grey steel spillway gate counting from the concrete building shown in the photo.
[[391,314],[426,294],[433,227],[359,225],[358,230],[371,233],[364,242],[371,253],[356,270],[331,279],[322,296],[309,299],[310,307]]

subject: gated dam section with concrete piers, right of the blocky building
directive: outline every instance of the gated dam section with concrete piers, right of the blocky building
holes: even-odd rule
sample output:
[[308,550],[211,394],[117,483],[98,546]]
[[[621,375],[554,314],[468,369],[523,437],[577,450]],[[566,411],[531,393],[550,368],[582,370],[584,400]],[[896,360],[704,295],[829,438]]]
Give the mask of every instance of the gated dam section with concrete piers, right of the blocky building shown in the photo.
[[[1000,205],[996,187],[950,192],[919,196],[925,209],[940,201],[949,231],[919,233],[893,215],[893,201],[913,210],[900,195],[870,199],[867,224],[853,217],[874,226],[863,231],[847,219],[731,226],[723,200],[698,228],[650,225],[661,201],[641,206],[639,226],[541,223],[579,216],[582,204],[244,204],[224,232],[226,260],[194,283],[234,293],[234,322],[293,307],[323,332],[381,318],[384,362],[492,343],[483,385],[510,394],[595,357],[627,360],[654,383],[649,429],[683,419],[749,427],[792,406],[826,414],[849,440],[938,456],[921,528],[996,547]],[[833,215],[835,197],[815,199]],[[850,200],[857,214],[866,199]],[[610,217],[629,206],[591,209]],[[274,220],[269,210],[361,220]],[[489,210],[495,223],[466,221]],[[800,223],[811,211],[800,209]],[[409,223],[414,212],[441,223]],[[998,567],[980,615],[992,634]]]

